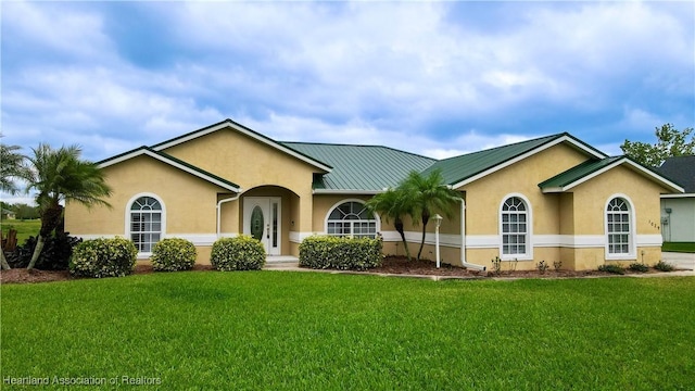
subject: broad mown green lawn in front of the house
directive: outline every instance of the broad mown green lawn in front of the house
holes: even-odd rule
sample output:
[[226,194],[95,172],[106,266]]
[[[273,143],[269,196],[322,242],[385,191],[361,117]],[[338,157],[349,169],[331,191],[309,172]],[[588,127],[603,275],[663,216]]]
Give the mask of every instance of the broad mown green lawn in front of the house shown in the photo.
[[688,277],[435,282],[187,272],[3,285],[0,293],[3,379],[674,390],[691,388],[695,374]]

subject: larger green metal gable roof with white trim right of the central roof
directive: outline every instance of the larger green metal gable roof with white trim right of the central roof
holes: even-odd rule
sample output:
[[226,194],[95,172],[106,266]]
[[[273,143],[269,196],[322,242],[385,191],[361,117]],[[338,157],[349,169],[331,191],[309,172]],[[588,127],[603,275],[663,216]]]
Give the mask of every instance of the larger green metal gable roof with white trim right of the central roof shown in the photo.
[[563,133],[445,159],[432,164],[425,174],[441,169],[446,184],[458,188],[561,142],[567,142],[595,159],[606,157],[603,152]]

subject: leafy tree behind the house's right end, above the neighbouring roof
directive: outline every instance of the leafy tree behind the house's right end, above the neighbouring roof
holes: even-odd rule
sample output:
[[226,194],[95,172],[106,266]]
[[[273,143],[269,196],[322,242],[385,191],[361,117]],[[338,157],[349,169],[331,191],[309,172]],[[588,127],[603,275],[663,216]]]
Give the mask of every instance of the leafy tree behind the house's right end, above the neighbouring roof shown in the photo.
[[665,124],[656,128],[655,135],[655,144],[626,140],[620,149],[634,161],[649,167],[660,166],[667,157],[695,154],[693,128],[679,131],[672,124]]

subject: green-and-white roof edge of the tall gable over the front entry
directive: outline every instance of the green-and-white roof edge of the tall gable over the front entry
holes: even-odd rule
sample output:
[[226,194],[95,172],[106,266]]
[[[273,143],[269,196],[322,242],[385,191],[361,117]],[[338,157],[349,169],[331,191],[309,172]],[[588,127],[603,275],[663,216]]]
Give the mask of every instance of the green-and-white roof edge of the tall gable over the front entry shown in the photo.
[[167,148],[184,143],[184,142],[192,140],[194,138],[198,138],[198,137],[201,137],[201,136],[205,136],[205,135],[208,135],[211,133],[214,133],[214,131],[217,131],[217,130],[220,130],[220,129],[225,129],[225,128],[232,128],[232,129],[235,129],[235,130],[237,130],[237,131],[239,131],[239,133],[241,133],[241,134],[243,134],[245,136],[249,136],[249,137],[255,139],[257,141],[261,141],[261,142],[265,143],[266,146],[270,146],[270,147],[273,147],[273,148],[275,148],[275,149],[277,149],[277,150],[281,151],[281,152],[285,152],[285,153],[287,153],[289,155],[292,155],[292,156],[294,156],[294,157],[296,157],[296,159],[299,159],[299,160],[301,160],[301,161],[303,161],[305,163],[308,163],[308,164],[311,164],[311,165],[313,165],[313,166],[315,166],[315,167],[317,167],[317,168],[319,168],[321,171],[325,171],[327,173],[329,173],[331,171],[331,168],[332,168],[331,166],[329,166],[328,164],[326,164],[324,162],[320,162],[320,161],[318,161],[318,160],[316,160],[316,159],[314,159],[312,156],[307,156],[304,153],[302,153],[300,151],[295,151],[290,147],[282,146],[281,143],[273,140],[271,138],[263,136],[260,133],[253,131],[253,130],[249,129],[248,127],[245,127],[245,126],[243,126],[241,124],[238,124],[238,123],[236,123],[236,122],[233,122],[233,121],[231,121],[229,118],[227,118],[227,119],[225,119],[223,122],[219,122],[217,124],[213,124],[213,125],[206,126],[204,128],[201,128],[201,129],[198,129],[198,130],[193,130],[193,131],[188,133],[186,135],[182,135],[182,136],[179,136],[179,137],[175,137],[173,139],[156,143],[156,144],[152,146],[151,148],[154,151],[162,151],[164,149],[167,149]]

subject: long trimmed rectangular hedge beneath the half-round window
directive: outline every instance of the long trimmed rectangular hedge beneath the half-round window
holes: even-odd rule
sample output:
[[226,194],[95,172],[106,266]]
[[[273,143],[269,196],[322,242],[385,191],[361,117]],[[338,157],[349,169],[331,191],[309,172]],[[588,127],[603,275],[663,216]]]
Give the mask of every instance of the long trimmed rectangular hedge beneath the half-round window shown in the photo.
[[300,265],[315,269],[366,270],[381,265],[380,239],[312,236],[300,244]]

